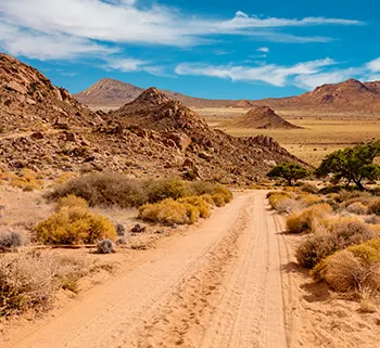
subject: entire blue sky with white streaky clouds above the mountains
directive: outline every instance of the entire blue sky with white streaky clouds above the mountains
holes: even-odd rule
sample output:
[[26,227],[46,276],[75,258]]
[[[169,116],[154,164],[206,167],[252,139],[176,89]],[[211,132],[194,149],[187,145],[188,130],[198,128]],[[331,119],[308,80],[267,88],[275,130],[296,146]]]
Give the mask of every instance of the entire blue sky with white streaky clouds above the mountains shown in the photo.
[[379,0],[0,0],[0,49],[72,93],[111,77],[213,99],[380,80]]

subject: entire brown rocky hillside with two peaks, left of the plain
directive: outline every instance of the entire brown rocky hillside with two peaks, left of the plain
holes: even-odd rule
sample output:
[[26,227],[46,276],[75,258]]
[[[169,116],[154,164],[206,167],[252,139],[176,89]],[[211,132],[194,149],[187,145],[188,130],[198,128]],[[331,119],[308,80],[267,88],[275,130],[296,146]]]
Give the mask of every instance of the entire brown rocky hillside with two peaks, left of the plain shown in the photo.
[[250,183],[295,162],[270,138],[232,138],[151,88],[118,111],[92,113],[42,74],[0,55],[0,167],[121,171],[130,177]]

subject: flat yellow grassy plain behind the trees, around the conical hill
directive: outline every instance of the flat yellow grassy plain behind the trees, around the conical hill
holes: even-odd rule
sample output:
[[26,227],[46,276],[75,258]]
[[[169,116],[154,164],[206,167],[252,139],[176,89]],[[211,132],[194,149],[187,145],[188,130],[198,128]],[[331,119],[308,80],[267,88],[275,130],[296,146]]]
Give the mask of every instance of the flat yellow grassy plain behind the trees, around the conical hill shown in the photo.
[[380,138],[380,114],[313,113],[280,111],[276,113],[304,129],[229,129],[219,126],[248,112],[243,108],[198,108],[210,126],[236,137],[265,134],[275,138],[289,152],[318,166],[332,151]]

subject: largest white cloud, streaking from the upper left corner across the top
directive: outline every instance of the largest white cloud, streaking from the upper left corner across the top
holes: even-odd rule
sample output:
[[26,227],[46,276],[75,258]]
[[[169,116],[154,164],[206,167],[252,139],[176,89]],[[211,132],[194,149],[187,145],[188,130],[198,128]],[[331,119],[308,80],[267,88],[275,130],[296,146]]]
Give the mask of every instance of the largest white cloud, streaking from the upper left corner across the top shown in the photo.
[[[241,35],[281,42],[326,42],[324,37],[297,37],[277,33],[279,27],[319,25],[360,25],[344,18],[276,18],[249,16],[238,11],[231,20],[191,16],[177,9],[153,4],[138,7],[135,0],[0,0],[0,21],[14,26],[26,36],[42,37],[40,47],[31,49],[29,40],[16,40],[13,52],[34,56],[58,57],[47,52],[56,38],[64,47],[62,57],[72,54],[102,51],[104,42],[114,44],[165,44],[191,47],[208,42],[214,35]],[[9,29],[9,28],[8,28]],[[5,28],[5,35],[7,30]],[[0,37],[4,33],[0,29]],[[49,43],[46,43],[49,41]],[[102,44],[100,42],[103,42]],[[3,46],[5,49],[10,46]],[[56,44],[58,46],[58,44]],[[80,49],[79,46],[84,48]],[[54,46],[55,47],[55,46]],[[106,50],[107,48],[104,48]],[[39,52],[37,52],[39,51]]]

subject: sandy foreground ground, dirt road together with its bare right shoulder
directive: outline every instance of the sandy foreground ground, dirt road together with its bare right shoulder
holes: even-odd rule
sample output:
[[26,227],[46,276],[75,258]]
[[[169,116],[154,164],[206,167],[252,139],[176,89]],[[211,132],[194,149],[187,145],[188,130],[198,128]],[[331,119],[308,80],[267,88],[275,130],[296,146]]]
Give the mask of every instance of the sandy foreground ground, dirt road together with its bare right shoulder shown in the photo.
[[265,195],[236,193],[153,249],[111,255],[113,276],[3,327],[1,347],[375,347],[378,313],[312,282],[293,258],[302,236],[282,232]]

